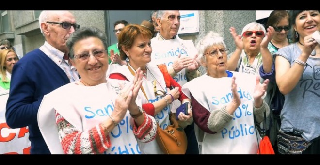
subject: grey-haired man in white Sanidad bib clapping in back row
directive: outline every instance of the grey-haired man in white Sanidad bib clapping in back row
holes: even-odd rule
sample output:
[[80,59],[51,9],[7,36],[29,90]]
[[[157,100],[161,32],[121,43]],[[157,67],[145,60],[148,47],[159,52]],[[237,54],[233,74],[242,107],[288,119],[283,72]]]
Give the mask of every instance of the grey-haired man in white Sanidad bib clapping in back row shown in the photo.
[[[167,55],[165,58],[163,54],[157,55],[157,51],[152,51],[151,62],[160,64],[165,61],[169,74],[178,82],[181,86],[187,81],[199,77],[201,75],[198,71],[199,63],[195,60],[197,55],[190,53],[188,51],[194,48],[194,45],[187,45],[186,42],[177,36],[180,28],[180,12],[178,10],[158,10],[156,23],[160,27],[160,31],[157,36],[151,40],[152,49],[156,50],[157,47],[163,48],[164,40],[172,40],[178,43],[178,49],[176,46],[172,45],[171,52],[165,53]],[[187,48],[188,47],[188,48]],[[193,47],[193,48],[191,48]],[[195,48],[194,48],[195,49]],[[174,57],[173,57],[174,56]],[[167,58],[169,57],[169,58]],[[160,59],[162,58],[162,59]],[[178,105],[175,102],[175,105]],[[186,154],[198,154],[198,144],[194,133],[194,123],[192,120],[191,125],[186,126],[184,129],[188,138],[188,148]]]

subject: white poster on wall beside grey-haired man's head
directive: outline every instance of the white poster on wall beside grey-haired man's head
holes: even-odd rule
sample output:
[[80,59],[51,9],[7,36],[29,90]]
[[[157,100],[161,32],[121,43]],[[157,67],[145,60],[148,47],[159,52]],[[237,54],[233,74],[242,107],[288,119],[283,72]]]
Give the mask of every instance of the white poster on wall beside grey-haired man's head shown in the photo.
[[178,34],[199,32],[199,11],[180,10],[180,29]]

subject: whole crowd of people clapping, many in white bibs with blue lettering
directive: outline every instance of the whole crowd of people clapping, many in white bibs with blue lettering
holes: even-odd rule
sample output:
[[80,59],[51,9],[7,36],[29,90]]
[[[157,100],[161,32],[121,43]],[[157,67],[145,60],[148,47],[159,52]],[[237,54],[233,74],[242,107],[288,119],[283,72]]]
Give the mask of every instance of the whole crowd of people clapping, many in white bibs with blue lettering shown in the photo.
[[157,130],[171,115],[185,154],[256,154],[264,135],[276,154],[320,153],[319,10],[274,10],[240,34],[230,27],[231,53],[213,31],[196,46],[181,39],[180,18],[155,10],[141,24],[116,21],[109,46],[71,12],[42,11],[43,46],[21,58],[0,41],[8,126],[28,126],[31,154],[163,154]]

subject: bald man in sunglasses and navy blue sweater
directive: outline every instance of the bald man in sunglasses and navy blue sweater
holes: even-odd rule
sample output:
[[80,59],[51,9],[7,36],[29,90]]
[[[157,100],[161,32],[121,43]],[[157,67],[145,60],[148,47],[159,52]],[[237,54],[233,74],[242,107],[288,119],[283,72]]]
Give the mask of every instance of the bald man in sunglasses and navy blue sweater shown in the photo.
[[31,154],[50,154],[38,127],[38,108],[44,95],[79,79],[65,43],[80,25],[69,11],[55,10],[42,11],[39,26],[46,41],[13,68],[5,116],[10,128],[28,126]]

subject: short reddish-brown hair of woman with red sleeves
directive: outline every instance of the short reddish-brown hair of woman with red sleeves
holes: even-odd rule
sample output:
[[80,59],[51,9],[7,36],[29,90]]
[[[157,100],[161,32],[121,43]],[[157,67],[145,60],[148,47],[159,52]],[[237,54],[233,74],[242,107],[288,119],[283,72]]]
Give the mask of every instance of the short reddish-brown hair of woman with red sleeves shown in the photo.
[[120,59],[125,60],[128,56],[122,50],[122,46],[129,49],[132,47],[134,39],[138,35],[142,35],[145,38],[152,38],[152,33],[149,29],[138,25],[138,24],[129,24],[123,28],[121,33],[118,36],[118,49],[120,51]]

